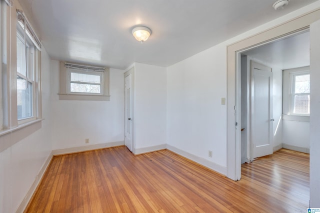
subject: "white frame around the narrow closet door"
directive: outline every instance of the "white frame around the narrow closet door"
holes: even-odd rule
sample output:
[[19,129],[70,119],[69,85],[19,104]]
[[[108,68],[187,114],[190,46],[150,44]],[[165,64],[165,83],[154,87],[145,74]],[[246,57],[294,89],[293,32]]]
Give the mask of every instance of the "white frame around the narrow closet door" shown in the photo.
[[[127,71],[125,71],[124,72],[124,76],[123,76],[123,81],[124,81],[124,84],[125,84],[125,77],[126,76],[128,76],[129,74],[131,74],[131,111],[132,111],[132,114],[131,114],[131,125],[132,125],[132,132],[131,132],[131,134],[132,134],[132,144],[131,144],[131,151],[132,151],[132,153],[135,153],[135,131],[134,131],[134,66],[132,66],[132,67],[129,67],[128,68],[128,70]],[[123,88],[124,89],[124,88]],[[124,90],[124,92],[126,92],[125,90]],[[126,122],[126,117],[125,117],[125,109],[126,109],[126,107],[125,107],[125,104],[126,104],[126,99],[125,99],[125,94],[123,95],[124,97],[124,108],[123,108],[123,113],[124,113],[124,145],[125,145],[125,122]]]

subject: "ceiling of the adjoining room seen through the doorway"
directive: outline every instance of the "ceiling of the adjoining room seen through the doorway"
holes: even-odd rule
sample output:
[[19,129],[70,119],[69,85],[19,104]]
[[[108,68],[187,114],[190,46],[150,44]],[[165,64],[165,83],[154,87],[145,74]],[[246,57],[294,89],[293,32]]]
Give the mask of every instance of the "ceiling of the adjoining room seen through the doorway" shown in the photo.
[[241,54],[280,69],[308,66],[310,65],[310,33],[304,31],[252,48]]

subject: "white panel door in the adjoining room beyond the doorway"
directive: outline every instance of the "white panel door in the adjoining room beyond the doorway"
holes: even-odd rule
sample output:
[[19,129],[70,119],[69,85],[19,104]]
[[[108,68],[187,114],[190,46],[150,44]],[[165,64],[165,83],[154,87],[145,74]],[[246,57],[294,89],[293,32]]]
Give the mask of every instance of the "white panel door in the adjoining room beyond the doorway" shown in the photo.
[[272,71],[251,61],[252,156],[272,154]]

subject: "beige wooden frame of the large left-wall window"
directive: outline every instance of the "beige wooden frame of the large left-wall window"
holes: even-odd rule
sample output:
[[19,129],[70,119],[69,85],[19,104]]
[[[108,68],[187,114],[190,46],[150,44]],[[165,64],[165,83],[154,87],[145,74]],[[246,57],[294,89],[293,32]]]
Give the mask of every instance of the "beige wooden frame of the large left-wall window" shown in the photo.
[[[0,107],[0,135],[7,134],[17,129],[27,126],[34,126],[35,123],[42,119],[41,106],[41,43],[32,29],[19,4],[9,5],[1,4],[1,107]],[[16,12],[13,12],[15,11]],[[10,11],[10,12],[7,12]],[[12,11],[12,12],[11,12]],[[19,28],[21,27],[21,28]],[[24,44],[24,28],[25,37],[30,46],[33,48],[31,75],[17,73],[17,39],[23,40]],[[18,33],[20,34],[18,35]],[[22,33],[23,32],[23,33]],[[22,33],[22,34],[21,34]],[[19,37],[18,37],[19,36]],[[33,45],[34,44],[34,45]],[[30,50],[30,49],[29,49]],[[23,63],[24,64],[24,63]],[[25,64],[24,64],[25,65]],[[30,69],[29,69],[30,70]],[[28,75],[28,76],[27,76]],[[32,116],[18,119],[17,113],[17,78],[27,77],[27,81],[32,81]],[[29,128],[28,128],[29,129]],[[30,128],[31,129],[31,128]]]

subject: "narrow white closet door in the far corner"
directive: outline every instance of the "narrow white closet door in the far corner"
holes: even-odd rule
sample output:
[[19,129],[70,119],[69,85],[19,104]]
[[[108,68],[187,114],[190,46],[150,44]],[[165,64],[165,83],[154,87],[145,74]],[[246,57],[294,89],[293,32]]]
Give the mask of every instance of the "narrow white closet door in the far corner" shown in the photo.
[[124,78],[124,144],[132,151],[132,74]]

